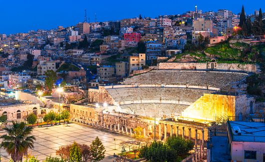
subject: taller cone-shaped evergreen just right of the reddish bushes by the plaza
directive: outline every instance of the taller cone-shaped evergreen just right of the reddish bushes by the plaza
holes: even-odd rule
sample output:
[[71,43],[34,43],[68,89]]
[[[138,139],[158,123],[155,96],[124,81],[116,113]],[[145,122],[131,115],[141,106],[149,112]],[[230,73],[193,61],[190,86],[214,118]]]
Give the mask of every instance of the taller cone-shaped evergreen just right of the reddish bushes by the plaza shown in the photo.
[[90,148],[93,161],[100,161],[105,157],[105,147],[103,146],[98,136],[96,136],[92,141]]

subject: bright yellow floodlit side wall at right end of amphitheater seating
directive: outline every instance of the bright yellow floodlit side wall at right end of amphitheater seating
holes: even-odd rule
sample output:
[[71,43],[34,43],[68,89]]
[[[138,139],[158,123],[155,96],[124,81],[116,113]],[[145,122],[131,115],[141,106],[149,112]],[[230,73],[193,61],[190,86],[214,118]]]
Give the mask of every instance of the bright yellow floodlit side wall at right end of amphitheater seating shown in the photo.
[[182,112],[183,117],[206,120],[234,115],[235,96],[206,93]]

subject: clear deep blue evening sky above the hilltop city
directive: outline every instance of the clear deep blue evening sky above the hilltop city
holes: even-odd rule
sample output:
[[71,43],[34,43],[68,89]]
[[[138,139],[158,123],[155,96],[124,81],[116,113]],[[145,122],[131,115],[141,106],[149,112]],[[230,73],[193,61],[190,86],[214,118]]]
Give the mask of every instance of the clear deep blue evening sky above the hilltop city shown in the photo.
[[247,14],[261,7],[265,0],[0,0],[0,33],[27,32],[30,29],[50,29],[58,25],[69,26],[87,17],[94,21],[117,20],[127,17],[155,17],[161,14],[181,14],[194,10],[229,9]]

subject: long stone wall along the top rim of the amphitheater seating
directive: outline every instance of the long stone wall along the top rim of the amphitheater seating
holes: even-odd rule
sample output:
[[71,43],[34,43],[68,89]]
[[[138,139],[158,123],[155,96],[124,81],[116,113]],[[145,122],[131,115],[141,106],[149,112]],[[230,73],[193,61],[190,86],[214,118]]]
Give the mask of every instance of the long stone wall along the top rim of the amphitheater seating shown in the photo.
[[221,71],[242,71],[257,73],[255,64],[240,64],[240,63],[178,63],[178,62],[161,62],[158,64],[158,69],[178,69],[178,70],[221,70]]

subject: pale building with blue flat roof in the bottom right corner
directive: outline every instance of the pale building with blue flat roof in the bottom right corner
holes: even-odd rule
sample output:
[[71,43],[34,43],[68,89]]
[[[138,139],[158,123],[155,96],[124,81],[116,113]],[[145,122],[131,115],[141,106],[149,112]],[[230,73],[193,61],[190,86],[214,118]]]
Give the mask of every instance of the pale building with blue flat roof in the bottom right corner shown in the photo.
[[265,159],[264,118],[251,119],[254,121],[227,121],[231,161],[264,161]]

